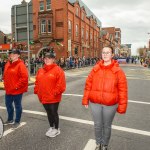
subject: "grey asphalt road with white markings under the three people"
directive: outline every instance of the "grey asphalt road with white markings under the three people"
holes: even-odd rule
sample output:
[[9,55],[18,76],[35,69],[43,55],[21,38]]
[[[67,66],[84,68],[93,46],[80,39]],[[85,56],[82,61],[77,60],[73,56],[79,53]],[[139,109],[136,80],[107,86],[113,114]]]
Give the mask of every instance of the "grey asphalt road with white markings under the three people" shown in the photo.
[[[129,104],[125,115],[116,114],[110,150],[150,150],[150,70],[123,65],[128,79]],[[59,107],[61,134],[45,136],[47,117],[33,86],[23,96],[22,124],[5,127],[0,150],[94,150],[90,109],[81,105],[85,79],[91,67],[66,71],[67,90]],[[0,91],[0,115],[6,120],[4,91]]]

